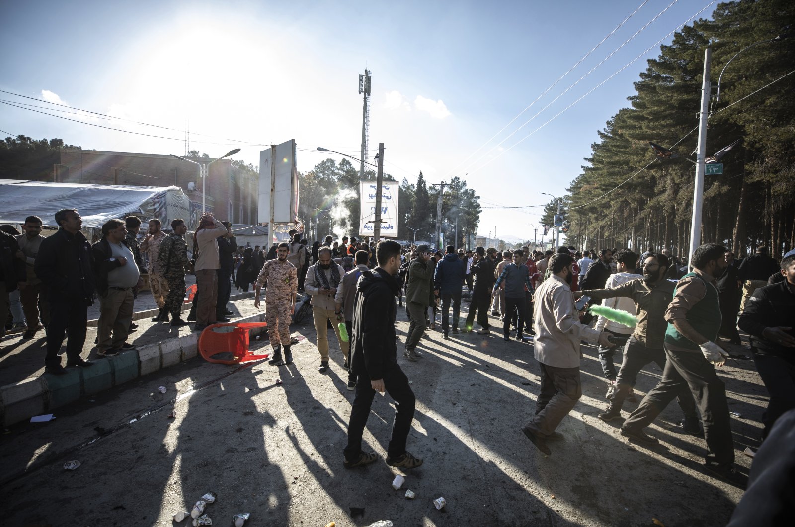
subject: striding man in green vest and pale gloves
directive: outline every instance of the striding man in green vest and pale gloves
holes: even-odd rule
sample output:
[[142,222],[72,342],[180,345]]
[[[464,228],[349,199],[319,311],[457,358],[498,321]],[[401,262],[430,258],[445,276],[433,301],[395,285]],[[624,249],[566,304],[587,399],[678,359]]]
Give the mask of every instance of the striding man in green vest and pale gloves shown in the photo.
[[728,353],[715,343],[720,330],[720,305],[715,277],[726,267],[726,248],[712,243],[692,254],[693,270],[677,282],[673,300],[665,312],[665,370],[662,379],[643,398],[621,428],[622,436],[642,444],[657,444],[643,432],[674,397],[688,386],[699,406],[704,423],[708,454],[704,467],[725,479],[737,479],[732,463],[735,448],[731,439],[726,386],[715,373]]

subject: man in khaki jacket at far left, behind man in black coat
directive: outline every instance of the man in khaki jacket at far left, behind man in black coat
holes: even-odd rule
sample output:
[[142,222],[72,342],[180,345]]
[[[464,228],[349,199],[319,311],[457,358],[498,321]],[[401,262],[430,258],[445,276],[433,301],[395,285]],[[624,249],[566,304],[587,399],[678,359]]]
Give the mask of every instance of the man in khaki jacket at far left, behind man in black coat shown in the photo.
[[17,236],[17,243],[21,252],[18,256],[23,257],[21,259],[25,261],[25,273],[27,275],[25,285],[21,286],[19,291],[19,300],[22,303],[22,309],[25,310],[25,321],[28,325],[25,334],[22,335],[23,340],[33,339],[36,332],[49,323],[47,295],[41,279],[36,276],[36,271],[34,270],[41,242],[45,240],[45,237],[41,235],[42,225],[43,222],[38,216],[28,216],[22,225],[25,234]]

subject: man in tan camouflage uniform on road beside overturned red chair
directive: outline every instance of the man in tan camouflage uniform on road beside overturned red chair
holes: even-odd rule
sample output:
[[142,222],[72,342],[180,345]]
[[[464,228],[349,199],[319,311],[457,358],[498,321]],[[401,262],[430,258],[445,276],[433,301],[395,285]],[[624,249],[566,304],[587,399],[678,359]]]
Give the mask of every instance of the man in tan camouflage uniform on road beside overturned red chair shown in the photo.
[[[290,351],[290,321],[296,310],[298,272],[295,265],[287,261],[289,251],[289,245],[280,243],[276,249],[277,259],[262,265],[254,296],[254,307],[259,308],[259,291],[266,284],[265,321],[268,324],[270,345],[273,347],[273,358],[268,363],[274,366],[293,363],[293,352]],[[281,347],[285,348],[284,360],[281,359]]]

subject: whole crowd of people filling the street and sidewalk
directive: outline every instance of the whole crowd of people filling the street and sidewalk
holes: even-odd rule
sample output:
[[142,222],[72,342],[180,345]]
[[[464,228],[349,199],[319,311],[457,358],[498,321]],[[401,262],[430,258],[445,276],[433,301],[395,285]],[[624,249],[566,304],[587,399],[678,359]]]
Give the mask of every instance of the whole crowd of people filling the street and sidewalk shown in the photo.
[[[620,433],[640,444],[656,444],[646,428],[676,398],[682,432],[703,432],[704,467],[723,479],[738,475],[727,394],[715,368],[723,366],[731,344],[741,343],[739,331],[749,335],[754,362],[770,393],[762,440],[779,417],[795,409],[795,251],[777,260],[758,247],[738,260],[723,246],[705,244],[689,262],[669,249],[652,248],[638,255],[616,248],[541,252],[524,246],[500,253],[482,246],[447,246],[442,254],[425,244],[405,248],[352,237],[328,236],[309,246],[297,231],[289,233],[289,242],[266,250],[238,247],[231,224],[211,214],[200,218],[189,251],[182,219],[173,220],[170,234],[151,219],[143,236],[138,217],[109,219],[93,243],[82,234],[75,209],[60,210],[55,219],[60,229],[46,238],[37,216],[25,219],[24,233],[8,234],[10,226],[0,230],[0,320],[10,318],[18,300],[25,322],[15,326],[12,321],[10,331],[24,327],[22,338],[33,339],[46,328],[46,371],[65,373],[59,355],[64,338],[66,365],[91,366],[81,353],[87,308],[95,299],[100,311],[97,354],[134,348],[128,337],[136,327],[134,301],[144,271],[159,308],[152,321],[175,327],[187,324],[181,318],[185,274],[196,275],[188,315],[195,331],[229,320],[233,283],[243,290],[254,285],[256,307],[264,288],[273,366],[293,362],[289,326],[303,292],[312,307],[319,371],[329,368],[332,327],[348,372],[347,388],[355,390],[345,467],[378,459],[363,451],[361,442],[374,393],[385,390],[396,402],[386,462],[403,468],[422,464],[406,451],[415,400],[397,360],[395,321],[404,299],[409,328],[402,349],[409,361],[433,351],[437,324],[443,339],[470,333],[476,323],[478,335],[502,327],[506,342],[533,344],[541,389],[522,432],[546,455],[551,454],[549,440],[560,436],[558,424],[582,396],[582,343],[596,348],[607,381],[608,405],[600,419],[623,418],[624,402],[636,400],[633,386],[639,372],[655,362],[663,371],[661,381],[626,417]],[[607,309],[594,317],[589,305]],[[626,318],[615,313],[630,316],[631,324],[623,324]],[[17,314],[12,318],[17,320]]]

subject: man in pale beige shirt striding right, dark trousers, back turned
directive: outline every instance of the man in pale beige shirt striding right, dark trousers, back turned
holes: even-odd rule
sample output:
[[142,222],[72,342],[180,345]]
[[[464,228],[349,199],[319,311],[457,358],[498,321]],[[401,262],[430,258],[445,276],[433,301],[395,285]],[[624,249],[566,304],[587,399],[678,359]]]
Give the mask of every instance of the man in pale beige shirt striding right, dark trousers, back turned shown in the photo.
[[551,274],[535,293],[533,321],[536,335],[535,358],[541,366],[541,393],[536,401],[536,414],[522,432],[546,455],[552,452],[546,444],[554,436],[560,421],[572,411],[582,397],[580,385],[580,340],[611,346],[606,333],[580,324],[574,305],[571,283],[574,258],[555,254],[549,259]]

